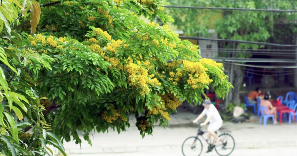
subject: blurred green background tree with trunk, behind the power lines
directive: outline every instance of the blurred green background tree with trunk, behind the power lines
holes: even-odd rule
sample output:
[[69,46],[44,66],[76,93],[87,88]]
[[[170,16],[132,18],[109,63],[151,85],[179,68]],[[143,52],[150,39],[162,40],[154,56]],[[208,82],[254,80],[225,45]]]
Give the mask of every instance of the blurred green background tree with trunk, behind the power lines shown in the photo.
[[[167,0],[170,5],[177,6],[205,6],[223,8],[247,8],[247,9],[281,9],[296,10],[297,2],[294,0]],[[214,9],[191,9],[191,8],[166,8],[178,29],[183,30],[186,36],[208,37],[208,29],[214,24],[213,29],[220,39],[243,40],[254,42],[269,42],[275,40],[275,23],[286,22],[290,29],[282,30],[297,34],[296,13],[269,12],[269,11],[239,11],[239,10],[214,10]],[[197,24],[199,23],[199,24]],[[278,42],[275,42],[278,43]],[[223,43],[222,47],[234,49],[234,52],[220,53],[227,57],[251,57],[245,51],[237,52],[236,49],[260,49],[264,46]],[[282,44],[282,43],[281,43]],[[244,62],[243,62],[244,63]],[[232,70],[231,66],[227,66]],[[243,82],[244,74],[239,65],[234,65],[234,90],[232,103],[240,104],[239,91]]]

